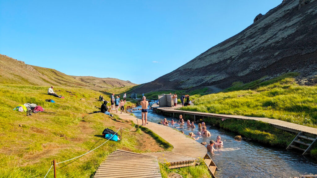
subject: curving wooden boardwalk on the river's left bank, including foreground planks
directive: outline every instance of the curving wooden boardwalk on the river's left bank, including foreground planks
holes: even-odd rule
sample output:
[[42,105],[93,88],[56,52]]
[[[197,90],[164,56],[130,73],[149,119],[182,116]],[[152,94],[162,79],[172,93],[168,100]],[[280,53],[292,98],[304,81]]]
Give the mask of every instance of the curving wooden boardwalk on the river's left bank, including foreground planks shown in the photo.
[[[137,118],[134,116],[124,113],[118,115],[122,119],[132,120],[134,123],[137,123]],[[139,124],[142,124],[140,119]],[[149,122],[149,124],[144,127],[152,130],[169,142],[173,146],[172,151],[140,154],[116,150],[107,157],[105,162],[100,164],[94,177],[157,178],[161,177],[158,162],[168,163],[167,165],[169,168],[191,166],[195,165],[197,160],[203,159],[207,153],[207,149],[204,145],[186,137],[184,134],[171,127],[152,122]],[[122,132],[122,134],[124,139],[124,132]]]

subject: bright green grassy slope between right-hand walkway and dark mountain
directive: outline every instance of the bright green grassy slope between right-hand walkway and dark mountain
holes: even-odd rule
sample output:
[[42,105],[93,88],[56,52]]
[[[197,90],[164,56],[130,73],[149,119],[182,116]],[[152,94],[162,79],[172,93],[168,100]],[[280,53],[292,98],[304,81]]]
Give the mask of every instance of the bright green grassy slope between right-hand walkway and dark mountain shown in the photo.
[[235,85],[227,91],[202,96],[195,106],[182,110],[275,118],[317,128],[317,86],[299,86],[292,76],[294,73]]

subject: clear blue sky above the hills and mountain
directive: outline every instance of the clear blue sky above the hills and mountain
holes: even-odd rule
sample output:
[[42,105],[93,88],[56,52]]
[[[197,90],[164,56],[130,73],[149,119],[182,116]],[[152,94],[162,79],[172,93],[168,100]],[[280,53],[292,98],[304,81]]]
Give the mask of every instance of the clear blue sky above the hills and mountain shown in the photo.
[[0,54],[68,75],[141,84],[239,33],[281,2],[0,0]]

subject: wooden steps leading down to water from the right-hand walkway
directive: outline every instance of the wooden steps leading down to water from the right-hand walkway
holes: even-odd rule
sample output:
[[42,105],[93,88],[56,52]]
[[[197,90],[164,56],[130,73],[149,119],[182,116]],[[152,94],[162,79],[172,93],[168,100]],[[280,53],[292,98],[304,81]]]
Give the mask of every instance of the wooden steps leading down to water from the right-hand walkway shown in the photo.
[[[303,142],[303,140],[311,141],[311,143]],[[286,149],[294,148],[294,149],[303,151],[302,155],[309,154],[309,150],[311,149],[312,145],[315,143],[316,140],[317,140],[317,136],[316,138],[312,138],[311,136],[310,137],[306,136],[305,132],[299,132]],[[299,145],[307,146],[307,148],[306,149],[301,148]]]

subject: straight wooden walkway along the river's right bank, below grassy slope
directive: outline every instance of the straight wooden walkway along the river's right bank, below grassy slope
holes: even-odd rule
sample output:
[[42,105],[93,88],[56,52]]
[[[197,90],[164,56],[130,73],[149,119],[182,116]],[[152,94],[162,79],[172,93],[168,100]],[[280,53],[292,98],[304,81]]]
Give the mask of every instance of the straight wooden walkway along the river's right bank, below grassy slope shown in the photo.
[[257,120],[257,121],[262,121],[262,122],[265,122],[268,124],[272,124],[274,127],[277,127],[277,128],[283,129],[283,130],[288,130],[288,131],[292,131],[292,132],[296,132],[296,133],[306,132],[306,133],[317,135],[317,128],[308,127],[308,126],[299,125],[299,124],[294,124],[294,123],[290,123],[290,122],[286,122],[286,121],[281,121],[278,119],[176,110],[177,108],[180,108],[181,105],[177,105],[177,107],[159,107],[159,105],[152,105],[152,107],[159,109],[161,111],[164,111],[164,112],[172,112],[172,113],[179,113],[179,114],[189,114],[189,115],[196,115],[196,116],[222,118],[222,119],[236,118],[236,119]]

